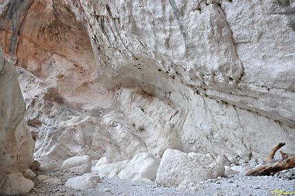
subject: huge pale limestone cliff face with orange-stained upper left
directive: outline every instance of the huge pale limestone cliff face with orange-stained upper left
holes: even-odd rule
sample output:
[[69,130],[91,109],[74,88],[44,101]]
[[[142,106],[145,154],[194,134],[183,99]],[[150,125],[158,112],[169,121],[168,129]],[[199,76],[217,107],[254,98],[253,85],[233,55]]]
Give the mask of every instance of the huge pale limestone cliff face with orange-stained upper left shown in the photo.
[[3,1],[36,158],[295,151],[286,1]]

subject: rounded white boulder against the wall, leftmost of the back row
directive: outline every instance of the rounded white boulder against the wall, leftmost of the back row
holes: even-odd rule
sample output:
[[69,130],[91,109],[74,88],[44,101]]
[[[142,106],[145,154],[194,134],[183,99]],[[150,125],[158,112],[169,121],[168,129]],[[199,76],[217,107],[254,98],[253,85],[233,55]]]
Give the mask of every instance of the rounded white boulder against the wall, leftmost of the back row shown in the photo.
[[88,173],[91,171],[90,156],[74,156],[62,162],[62,170],[73,171],[78,174]]

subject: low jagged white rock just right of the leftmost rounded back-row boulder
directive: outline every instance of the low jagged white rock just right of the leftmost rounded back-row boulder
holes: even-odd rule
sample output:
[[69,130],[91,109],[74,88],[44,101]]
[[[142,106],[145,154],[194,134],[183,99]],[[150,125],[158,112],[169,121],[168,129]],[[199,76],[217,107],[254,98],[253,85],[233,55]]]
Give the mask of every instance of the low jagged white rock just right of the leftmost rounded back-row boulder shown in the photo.
[[99,162],[97,162],[95,167],[91,169],[91,173],[95,173],[99,175],[100,177],[104,177],[104,176],[114,177],[122,169],[124,169],[127,166],[129,161],[130,160],[123,160],[120,162],[107,163],[106,158],[102,158],[99,160]]

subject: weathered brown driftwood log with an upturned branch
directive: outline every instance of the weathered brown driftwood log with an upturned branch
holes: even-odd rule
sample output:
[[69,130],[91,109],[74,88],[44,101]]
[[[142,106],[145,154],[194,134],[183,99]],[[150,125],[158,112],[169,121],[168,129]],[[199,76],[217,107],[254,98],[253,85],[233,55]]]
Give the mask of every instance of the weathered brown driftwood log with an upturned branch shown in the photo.
[[285,143],[279,143],[276,145],[270,154],[266,157],[265,161],[266,164],[257,167],[256,169],[252,169],[248,171],[246,175],[274,175],[279,171],[283,171],[285,169],[292,169],[295,167],[295,155],[294,154],[287,154],[283,151],[279,151],[282,158],[281,160],[274,160],[274,154],[278,151],[281,147],[283,147]]

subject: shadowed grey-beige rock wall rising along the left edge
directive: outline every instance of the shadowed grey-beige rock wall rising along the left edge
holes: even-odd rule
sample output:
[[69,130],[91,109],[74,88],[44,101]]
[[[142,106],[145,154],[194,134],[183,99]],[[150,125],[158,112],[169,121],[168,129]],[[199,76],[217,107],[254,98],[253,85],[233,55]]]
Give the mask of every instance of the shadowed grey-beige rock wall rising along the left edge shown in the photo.
[[34,140],[23,119],[25,102],[16,69],[4,58],[1,48],[0,104],[0,195],[21,194],[23,184],[27,191],[34,186],[21,174],[34,161]]

